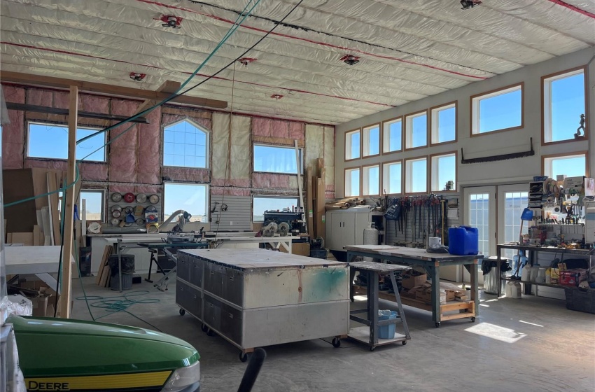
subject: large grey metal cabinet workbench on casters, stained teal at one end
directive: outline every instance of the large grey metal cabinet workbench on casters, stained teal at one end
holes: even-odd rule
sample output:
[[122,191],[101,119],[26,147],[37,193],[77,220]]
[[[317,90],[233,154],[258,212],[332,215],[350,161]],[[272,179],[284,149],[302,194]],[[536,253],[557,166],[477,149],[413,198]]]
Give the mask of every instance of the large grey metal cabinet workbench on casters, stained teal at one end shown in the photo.
[[349,332],[349,265],[265,249],[178,252],[176,304],[240,349]]

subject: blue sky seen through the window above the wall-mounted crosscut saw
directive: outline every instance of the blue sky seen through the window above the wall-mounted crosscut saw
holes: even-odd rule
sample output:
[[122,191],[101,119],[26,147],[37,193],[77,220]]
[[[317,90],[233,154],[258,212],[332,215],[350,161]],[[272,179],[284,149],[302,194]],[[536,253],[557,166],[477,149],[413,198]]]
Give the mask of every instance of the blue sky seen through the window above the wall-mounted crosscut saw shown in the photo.
[[479,133],[521,125],[521,87],[493,97],[479,99]]

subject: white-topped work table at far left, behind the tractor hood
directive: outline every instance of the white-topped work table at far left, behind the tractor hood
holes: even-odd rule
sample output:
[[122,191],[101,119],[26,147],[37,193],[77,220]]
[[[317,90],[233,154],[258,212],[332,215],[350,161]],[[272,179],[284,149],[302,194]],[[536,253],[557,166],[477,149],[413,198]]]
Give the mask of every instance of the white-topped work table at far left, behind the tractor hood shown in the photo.
[[[50,274],[56,274],[59,266],[60,246],[5,246],[4,260],[7,275],[34,274],[53,290],[56,279]],[[70,261],[76,262],[72,255]],[[73,272],[72,276],[78,276]]]

